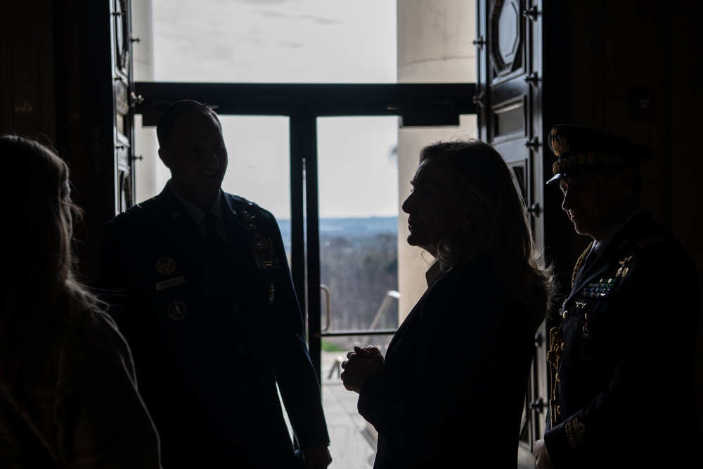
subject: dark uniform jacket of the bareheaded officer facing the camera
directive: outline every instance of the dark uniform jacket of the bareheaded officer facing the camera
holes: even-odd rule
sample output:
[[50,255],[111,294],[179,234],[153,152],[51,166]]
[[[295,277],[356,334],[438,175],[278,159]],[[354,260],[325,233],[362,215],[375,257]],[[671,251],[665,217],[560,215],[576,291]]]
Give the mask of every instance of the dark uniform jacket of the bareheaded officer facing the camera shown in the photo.
[[167,187],[105,225],[98,288],[134,354],[167,468],[287,468],[328,444],[278,224],[221,192],[227,245]]

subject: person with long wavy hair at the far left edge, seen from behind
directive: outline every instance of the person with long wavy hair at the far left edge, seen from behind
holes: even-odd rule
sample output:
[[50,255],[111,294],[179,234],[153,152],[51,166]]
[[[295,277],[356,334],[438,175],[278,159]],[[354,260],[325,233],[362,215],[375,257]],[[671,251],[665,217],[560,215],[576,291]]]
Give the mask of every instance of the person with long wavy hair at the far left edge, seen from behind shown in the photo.
[[74,273],[67,165],[15,135],[0,164],[0,467],[160,468],[127,342]]

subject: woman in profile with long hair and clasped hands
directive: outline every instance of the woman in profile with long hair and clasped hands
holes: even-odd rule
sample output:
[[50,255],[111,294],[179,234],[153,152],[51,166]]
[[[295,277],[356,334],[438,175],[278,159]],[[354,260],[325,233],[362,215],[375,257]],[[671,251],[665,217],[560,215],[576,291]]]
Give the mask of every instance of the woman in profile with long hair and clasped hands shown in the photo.
[[420,152],[403,204],[428,287],[385,358],[356,347],[342,381],[378,431],[375,469],[512,468],[534,333],[553,297],[520,191],[489,144]]

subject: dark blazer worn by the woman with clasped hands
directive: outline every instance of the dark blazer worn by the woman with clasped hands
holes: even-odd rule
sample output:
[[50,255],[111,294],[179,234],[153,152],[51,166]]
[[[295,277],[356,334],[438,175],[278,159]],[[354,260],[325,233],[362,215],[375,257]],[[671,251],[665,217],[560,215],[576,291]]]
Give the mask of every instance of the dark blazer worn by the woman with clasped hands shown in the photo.
[[373,467],[515,468],[534,355],[526,316],[485,260],[440,274],[361,387]]

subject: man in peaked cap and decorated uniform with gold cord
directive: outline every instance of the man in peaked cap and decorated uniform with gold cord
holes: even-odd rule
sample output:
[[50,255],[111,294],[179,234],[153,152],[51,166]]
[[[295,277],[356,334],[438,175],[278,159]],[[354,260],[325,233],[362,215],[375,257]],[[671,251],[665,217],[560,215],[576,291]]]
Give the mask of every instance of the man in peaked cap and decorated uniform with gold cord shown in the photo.
[[550,331],[549,420],[537,468],[693,468],[699,279],[640,205],[640,162],[618,136],[557,125],[548,136],[562,209],[593,239]]

